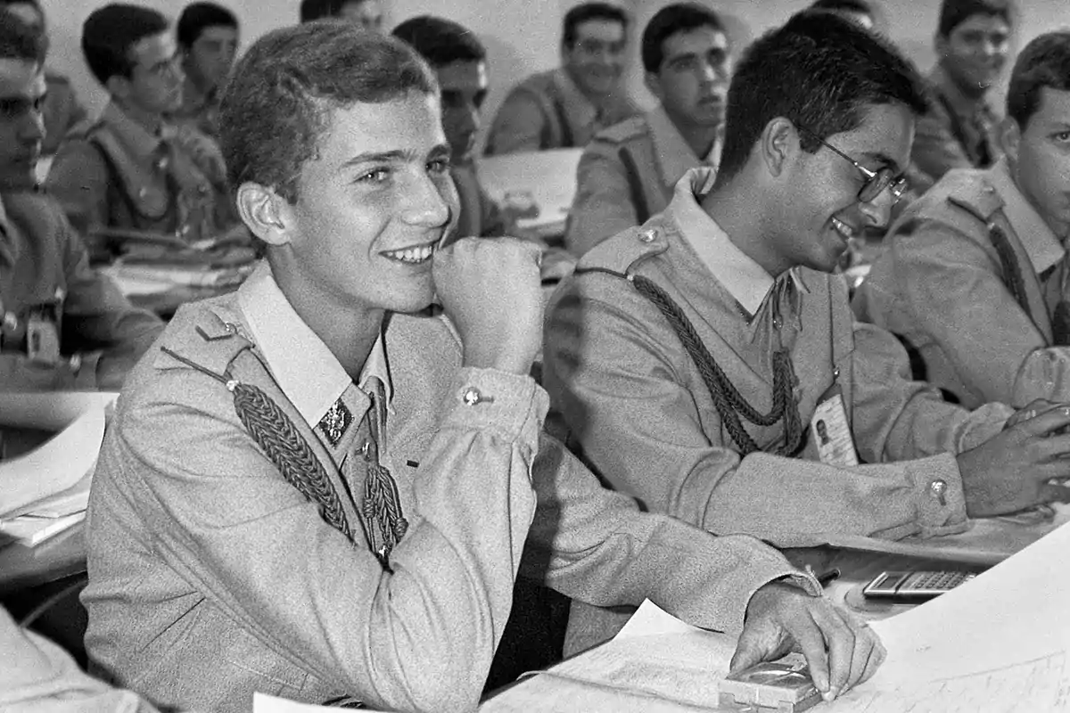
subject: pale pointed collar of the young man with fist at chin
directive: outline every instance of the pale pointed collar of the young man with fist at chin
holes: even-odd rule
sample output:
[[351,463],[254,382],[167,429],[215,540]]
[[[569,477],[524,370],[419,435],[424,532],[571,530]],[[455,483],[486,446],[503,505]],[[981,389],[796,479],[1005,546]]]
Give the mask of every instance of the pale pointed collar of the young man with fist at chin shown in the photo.
[[[349,374],[323,340],[293,310],[278,289],[266,261],[239,288],[238,300],[253,332],[253,342],[282,393],[302,418],[315,427],[352,383]],[[372,378],[383,385],[389,404],[393,386],[381,331],[364,363],[357,386],[370,392],[374,389]]]

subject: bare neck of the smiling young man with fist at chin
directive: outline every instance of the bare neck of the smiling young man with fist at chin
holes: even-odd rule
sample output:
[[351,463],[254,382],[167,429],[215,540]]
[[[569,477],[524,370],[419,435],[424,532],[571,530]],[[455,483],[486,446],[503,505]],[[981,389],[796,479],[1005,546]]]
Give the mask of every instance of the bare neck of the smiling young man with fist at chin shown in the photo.
[[293,311],[316,332],[353,382],[356,382],[368,360],[386,316],[385,310],[361,309],[325,299],[324,293],[310,290],[297,270],[274,269],[278,289],[286,295]]

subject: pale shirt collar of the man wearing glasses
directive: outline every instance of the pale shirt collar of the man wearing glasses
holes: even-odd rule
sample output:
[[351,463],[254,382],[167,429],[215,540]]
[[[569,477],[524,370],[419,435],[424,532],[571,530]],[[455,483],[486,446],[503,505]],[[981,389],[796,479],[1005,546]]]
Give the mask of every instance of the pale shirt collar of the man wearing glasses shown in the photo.
[[[692,169],[676,184],[666,216],[691,246],[702,265],[728,290],[749,314],[758,313],[776,280],[764,267],[736,247],[728,233],[702,210],[699,200],[708,192],[714,172]],[[795,286],[807,292],[806,285],[790,270]]]

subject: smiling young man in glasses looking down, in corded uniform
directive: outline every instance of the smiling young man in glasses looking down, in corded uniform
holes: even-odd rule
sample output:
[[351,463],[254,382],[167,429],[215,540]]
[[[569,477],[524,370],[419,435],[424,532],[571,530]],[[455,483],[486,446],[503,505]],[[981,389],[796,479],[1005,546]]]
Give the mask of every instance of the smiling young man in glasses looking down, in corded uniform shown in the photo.
[[549,308],[544,383],[608,482],[781,546],[959,532],[1068,495],[1048,484],[1070,475],[1070,436],[1046,437],[1065,409],[1005,429],[1007,406],[945,403],[830,274],[903,188],[919,87],[876,35],[796,15],[736,67],[716,186],[698,170],[580,261]]

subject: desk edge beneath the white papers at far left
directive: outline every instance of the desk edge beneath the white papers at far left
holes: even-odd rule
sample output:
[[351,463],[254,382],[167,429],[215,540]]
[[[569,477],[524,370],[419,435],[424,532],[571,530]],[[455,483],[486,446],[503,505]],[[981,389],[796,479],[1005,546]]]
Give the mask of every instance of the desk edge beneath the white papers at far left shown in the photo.
[[36,547],[0,547],[0,598],[86,571],[85,523]]

